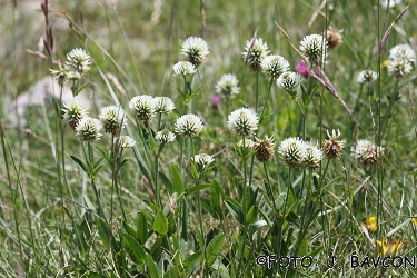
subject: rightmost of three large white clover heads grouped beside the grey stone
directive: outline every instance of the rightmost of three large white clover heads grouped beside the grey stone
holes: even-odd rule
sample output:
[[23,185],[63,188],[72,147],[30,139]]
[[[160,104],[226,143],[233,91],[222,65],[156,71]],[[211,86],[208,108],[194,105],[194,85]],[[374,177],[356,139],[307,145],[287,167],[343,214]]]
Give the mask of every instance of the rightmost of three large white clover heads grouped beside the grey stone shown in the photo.
[[99,120],[101,121],[105,131],[117,136],[119,130],[121,130],[126,125],[125,111],[121,107],[107,106],[101,108],[99,115]]

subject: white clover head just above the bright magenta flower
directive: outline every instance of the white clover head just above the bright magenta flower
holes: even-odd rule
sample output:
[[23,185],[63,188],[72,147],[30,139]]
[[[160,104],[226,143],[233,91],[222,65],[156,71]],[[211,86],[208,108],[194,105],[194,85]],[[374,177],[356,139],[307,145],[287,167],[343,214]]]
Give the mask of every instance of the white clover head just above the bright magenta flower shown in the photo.
[[300,43],[301,52],[308,60],[316,64],[322,64],[327,57],[327,40],[321,34],[308,34],[302,38]]

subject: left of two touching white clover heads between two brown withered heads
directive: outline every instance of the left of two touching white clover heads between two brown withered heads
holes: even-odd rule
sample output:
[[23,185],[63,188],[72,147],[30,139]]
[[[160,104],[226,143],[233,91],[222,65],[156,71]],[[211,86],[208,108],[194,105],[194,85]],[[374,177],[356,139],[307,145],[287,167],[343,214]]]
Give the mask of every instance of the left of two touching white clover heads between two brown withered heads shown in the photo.
[[290,137],[281,141],[278,147],[278,153],[289,167],[296,167],[305,161],[307,157],[307,146],[300,138]]

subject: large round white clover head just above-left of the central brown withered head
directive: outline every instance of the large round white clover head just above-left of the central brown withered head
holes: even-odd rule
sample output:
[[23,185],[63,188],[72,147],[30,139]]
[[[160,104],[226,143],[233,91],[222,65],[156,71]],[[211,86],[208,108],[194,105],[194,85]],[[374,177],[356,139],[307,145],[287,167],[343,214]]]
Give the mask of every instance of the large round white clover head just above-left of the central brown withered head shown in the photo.
[[228,119],[228,128],[238,136],[250,136],[258,129],[259,120],[256,112],[248,108],[239,108],[232,111]]

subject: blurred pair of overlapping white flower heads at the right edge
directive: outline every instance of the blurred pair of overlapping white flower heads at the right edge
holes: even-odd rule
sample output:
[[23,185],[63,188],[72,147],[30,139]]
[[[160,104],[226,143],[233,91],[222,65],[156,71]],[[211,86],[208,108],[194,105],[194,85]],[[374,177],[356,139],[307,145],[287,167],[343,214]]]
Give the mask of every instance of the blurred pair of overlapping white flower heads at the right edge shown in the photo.
[[397,78],[411,72],[416,62],[416,52],[408,44],[398,44],[389,50],[388,72]]

